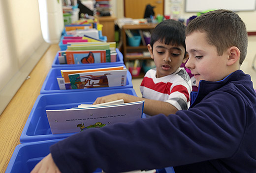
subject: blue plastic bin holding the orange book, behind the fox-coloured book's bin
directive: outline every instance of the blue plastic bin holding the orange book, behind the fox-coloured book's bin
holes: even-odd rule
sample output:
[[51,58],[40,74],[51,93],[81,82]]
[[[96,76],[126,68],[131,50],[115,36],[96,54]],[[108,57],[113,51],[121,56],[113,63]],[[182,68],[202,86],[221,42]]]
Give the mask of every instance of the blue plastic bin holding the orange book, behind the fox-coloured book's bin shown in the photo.
[[53,60],[53,64],[52,67],[88,67],[88,66],[104,66],[104,65],[108,65],[108,64],[115,64],[115,65],[120,65],[120,64],[124,64],[124,56],[123,54],[120,52],[119,49],[116,49],[117,52],[117,60],[116,62],[103,62],[103,63],[94,63],[94,64],[60,64],[59,62],[59,52],[57,52],[54,60]]

